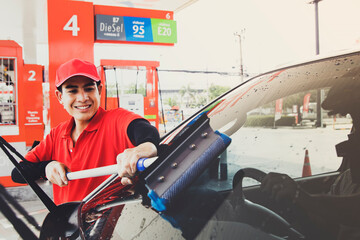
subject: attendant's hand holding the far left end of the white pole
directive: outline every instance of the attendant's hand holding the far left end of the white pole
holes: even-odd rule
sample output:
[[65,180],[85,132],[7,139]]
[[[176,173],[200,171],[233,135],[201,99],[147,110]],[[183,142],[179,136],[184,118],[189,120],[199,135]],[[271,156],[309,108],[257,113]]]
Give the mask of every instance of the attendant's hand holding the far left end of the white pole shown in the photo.
[[59,185],[60,187],[68,185],[68,179],[66,172],[68,167],[58,161],[50,162],[45,168],[46,178],[53,184]]

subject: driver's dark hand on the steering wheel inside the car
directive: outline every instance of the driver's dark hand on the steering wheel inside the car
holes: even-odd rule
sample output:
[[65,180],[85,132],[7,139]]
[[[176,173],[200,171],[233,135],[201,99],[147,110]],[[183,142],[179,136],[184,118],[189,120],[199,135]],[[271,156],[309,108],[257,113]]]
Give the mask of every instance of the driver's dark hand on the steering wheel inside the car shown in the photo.
[[300,189],[288,175],[271,172],[264,177],[260,190],[269,194],[276,201],[294,201]]

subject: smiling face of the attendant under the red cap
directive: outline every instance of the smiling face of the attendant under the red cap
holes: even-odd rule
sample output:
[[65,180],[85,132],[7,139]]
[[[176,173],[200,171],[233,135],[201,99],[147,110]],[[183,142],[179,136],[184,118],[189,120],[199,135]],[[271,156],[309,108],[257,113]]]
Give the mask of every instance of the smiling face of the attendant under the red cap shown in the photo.
[[62,84],[62,92],[56,90],[56,96],[77,123],[87,124],[99,109],[101,88],[90,78],[75,76]]

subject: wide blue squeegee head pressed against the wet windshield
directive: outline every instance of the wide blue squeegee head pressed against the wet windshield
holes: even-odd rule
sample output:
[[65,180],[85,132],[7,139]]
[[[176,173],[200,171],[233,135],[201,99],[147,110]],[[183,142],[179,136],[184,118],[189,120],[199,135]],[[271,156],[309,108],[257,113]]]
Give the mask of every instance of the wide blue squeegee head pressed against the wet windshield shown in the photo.
[[166,211],[176,196],[231,143],[225,134],[214,132],[209,121],[206,114],[199,115],[183,133],[178,134],[180,136],[165,154],[159,156],[156,164],[144,171],[151,206],[157,211]]

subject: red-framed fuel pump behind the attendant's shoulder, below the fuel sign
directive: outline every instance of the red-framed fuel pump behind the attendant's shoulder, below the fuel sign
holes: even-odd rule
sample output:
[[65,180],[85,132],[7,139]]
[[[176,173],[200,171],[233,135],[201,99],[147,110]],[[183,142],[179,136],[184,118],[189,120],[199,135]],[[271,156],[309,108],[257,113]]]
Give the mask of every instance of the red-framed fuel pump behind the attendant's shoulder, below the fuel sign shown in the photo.
[[102,107],[133,111],[159,129],[159,90],[156,61],[101,60],[105,94]]

